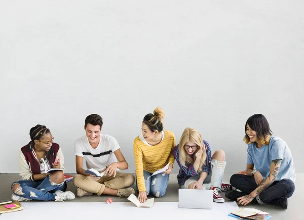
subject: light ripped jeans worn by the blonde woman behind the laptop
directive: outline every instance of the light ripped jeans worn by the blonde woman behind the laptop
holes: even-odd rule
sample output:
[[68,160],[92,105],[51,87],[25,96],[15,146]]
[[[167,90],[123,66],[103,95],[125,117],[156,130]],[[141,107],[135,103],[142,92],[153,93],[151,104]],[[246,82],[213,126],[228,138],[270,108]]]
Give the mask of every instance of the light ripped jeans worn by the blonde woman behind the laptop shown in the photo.
[[[215,159],[210,160],[211,170],[204,180],[203,186],[204,189],[210,189],[211,187],[221,188],[221,184],[223,181],[224,170],[226,166],[226,161],[218,161]],[[183,186],[180,186],[182,189],[187,189],[188,186],[192,183],[197,182],[200,179],[200,175],[195,177],[191,177],[186,180]]]

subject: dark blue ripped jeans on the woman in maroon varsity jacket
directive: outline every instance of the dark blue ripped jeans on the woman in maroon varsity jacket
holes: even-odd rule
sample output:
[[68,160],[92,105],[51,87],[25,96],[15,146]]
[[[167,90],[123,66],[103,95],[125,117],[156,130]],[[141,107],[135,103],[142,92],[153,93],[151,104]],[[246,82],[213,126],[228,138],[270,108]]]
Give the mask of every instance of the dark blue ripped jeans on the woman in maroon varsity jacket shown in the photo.
[[21,187],[20,191],[18,191],[18,189],[16,190],[18,194],[13,192],[15,195],[33,200],[55,201],[55,192],[57,190],[66,190],[65,181],[60,184],[51,183],[49,175],[40,181],[20,180],[14,182],[12,184],[12,191],[14,184],[19,184]]

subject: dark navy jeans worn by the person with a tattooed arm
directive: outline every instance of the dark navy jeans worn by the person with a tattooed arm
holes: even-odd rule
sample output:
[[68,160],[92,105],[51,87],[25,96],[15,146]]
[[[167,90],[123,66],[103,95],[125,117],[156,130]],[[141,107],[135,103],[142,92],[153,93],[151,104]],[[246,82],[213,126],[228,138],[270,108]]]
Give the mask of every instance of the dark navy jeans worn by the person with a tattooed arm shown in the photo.
[[[244,174],[233,174],[230,184],[241,190],[243,193],[250,194],[257,188],[254,177],[248,177]],[[258,196],[264,204],[274,204],[274,200],[281,197],[289,198],[294,192],[294,183],[289,179],[283,179],[273,182],[270,187],[263,190]]]

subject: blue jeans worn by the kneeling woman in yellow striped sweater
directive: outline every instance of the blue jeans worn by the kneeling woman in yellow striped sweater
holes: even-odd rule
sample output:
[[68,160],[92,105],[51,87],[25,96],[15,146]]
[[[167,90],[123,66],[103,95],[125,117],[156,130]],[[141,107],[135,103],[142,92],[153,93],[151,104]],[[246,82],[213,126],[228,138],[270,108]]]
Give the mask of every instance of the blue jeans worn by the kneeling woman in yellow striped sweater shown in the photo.
[[[147,180],[150,175],[152,175],[151,172],[143,170],[143,178],[147,195],[149,195],[149,193],[152,193],[156,197],[164,196],[169,182],[169,174],[159,173]],[[136,192],[138,194],[137,177],[135,179]]]

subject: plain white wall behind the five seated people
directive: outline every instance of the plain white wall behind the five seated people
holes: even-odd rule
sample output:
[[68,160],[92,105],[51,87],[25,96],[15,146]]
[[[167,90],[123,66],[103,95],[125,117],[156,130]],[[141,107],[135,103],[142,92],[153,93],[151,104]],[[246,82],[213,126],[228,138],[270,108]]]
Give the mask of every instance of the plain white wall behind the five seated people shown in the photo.
[[36,124],[75,172],[91,113],[134,172],[133,140],[161,106],[177,141],[192,126],[226,152],[226,172],[245,169],[244,125],[262,113],[302,173],[303,11],[300,0],[1,1],[0,172],[19,171]]

